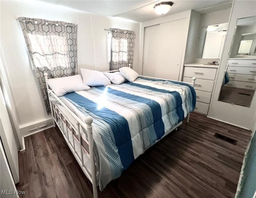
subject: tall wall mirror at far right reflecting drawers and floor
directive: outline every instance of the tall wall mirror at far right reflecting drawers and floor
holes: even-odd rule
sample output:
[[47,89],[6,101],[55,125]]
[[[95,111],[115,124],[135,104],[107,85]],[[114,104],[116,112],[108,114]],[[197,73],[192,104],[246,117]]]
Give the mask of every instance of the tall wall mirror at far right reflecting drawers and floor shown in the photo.
[[236,22],[219,100],[250,107],[256,89],[256,16]]

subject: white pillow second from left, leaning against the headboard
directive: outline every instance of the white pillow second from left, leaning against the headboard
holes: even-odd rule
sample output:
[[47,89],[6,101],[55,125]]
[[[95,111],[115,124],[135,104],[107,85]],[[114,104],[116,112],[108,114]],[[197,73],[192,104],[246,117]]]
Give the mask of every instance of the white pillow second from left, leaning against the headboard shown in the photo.
[[110,80],[102,72],[81,68],[81,73],[84,84],[88,86],[105,86],[111,84]]

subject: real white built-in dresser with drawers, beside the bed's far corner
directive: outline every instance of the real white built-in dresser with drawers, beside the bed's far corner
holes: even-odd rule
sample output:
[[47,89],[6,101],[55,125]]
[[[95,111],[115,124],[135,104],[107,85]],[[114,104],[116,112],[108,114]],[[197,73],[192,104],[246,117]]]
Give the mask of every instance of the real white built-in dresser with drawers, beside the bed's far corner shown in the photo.
[[183,81],[192,82],[192,78],[196,77],[196,108],[195,112],[208,114],[212,91],[215,85],[216,72],[218,65],[204,64],[185,64],[183,72]]

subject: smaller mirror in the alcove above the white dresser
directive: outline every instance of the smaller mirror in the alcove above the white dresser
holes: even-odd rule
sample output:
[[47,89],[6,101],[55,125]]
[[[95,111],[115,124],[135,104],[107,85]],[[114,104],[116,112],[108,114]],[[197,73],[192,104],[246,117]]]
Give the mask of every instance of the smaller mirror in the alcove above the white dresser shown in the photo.
[[196,58],[220,58],[228,23],[201,28]]

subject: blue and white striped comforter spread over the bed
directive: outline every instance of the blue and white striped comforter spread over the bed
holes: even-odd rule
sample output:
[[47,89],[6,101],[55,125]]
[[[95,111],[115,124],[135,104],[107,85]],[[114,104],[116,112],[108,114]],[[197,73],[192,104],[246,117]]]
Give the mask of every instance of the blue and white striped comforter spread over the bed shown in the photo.
[[181,122],[196,104],[192,86],[137,78],[60,97],[80,118],[92,116],[100,190],[156,140]]

